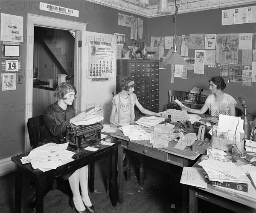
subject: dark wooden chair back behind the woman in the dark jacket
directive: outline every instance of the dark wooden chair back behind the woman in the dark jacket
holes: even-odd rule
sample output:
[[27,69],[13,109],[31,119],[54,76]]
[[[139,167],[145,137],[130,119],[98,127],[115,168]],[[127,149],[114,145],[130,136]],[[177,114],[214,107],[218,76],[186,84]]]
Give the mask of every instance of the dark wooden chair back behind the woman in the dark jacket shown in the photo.
[[28,119],[27,127],[29,131],[29,141],[31,149],[38,146],[38,142],[41,139],[44,128],[46,128],[44,122],[44,116],[39,115]]

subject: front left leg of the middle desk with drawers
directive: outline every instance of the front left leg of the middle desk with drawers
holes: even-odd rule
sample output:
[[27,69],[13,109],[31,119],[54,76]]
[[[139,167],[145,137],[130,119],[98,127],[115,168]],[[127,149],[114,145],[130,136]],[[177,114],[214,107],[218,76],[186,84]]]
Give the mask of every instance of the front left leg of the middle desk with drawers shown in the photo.
[[124,200],[123,198],[123,182],[122,182],[122,174],[124,172],[124,150],[120,146],[118,146],[118,193],[117,193],[117,201],[121,204]]

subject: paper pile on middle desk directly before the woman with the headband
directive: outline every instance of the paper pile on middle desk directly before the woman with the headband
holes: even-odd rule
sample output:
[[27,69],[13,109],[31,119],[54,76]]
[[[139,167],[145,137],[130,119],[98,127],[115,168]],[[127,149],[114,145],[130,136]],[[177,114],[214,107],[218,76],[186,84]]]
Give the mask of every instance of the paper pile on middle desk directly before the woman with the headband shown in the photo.
[[140,125],[126,125],[119,127],[125,136],[128,136],[131,141],[149,140],[150,133],[146,133]]

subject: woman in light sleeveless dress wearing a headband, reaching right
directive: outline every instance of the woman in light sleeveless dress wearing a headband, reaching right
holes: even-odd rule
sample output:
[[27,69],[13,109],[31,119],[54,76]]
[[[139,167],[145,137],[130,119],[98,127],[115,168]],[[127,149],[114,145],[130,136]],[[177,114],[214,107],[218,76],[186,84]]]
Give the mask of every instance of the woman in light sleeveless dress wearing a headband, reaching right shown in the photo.
[[110,125],[120,127],[124,125],[133,125],[135,119],[134,105],[146,115],[163,116],[162,112],[149,111],[140,104],[136,94],[134,94],[134,80],[125,76],[120,80],[122,91],[116,94],[112,100],[112,110],[110,116]]

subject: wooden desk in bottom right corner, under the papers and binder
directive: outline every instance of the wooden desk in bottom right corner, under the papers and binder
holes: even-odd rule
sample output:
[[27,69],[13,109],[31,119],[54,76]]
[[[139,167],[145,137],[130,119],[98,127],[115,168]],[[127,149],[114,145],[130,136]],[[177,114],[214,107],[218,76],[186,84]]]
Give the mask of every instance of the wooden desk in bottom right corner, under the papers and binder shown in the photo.
[[230,195],[208,184],[207,189],[189,186],[189,213],[198,213],[198,199],[203,199],[237,213],[256,211],[256,203]]

